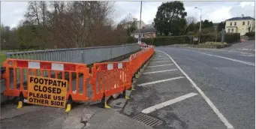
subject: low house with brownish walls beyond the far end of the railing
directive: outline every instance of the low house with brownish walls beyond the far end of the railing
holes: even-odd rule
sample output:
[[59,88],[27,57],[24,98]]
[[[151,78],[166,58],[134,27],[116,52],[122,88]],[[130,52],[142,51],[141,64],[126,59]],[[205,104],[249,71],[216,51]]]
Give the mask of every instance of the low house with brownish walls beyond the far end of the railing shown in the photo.
[[141,33],[141,38],[149,38],[149,37],[155,37],[155,32],[156,32],[156,30],[153,27],[149,27],[149,28],[143,27],[143,28],[141,28],[141,31],[139,28],[137,28],[135,31],[133,31],[131,33],[131,36],[138,38],[139,33]]

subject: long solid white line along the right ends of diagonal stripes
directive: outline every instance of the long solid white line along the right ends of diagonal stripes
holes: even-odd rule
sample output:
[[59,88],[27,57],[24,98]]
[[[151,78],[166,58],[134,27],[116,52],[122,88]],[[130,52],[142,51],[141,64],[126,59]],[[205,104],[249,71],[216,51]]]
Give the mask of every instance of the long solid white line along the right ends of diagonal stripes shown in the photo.
[[[159,51],[159,52],[162,52],[160,50],[156,50],[155,51]],[[173,61],[173,63],[176,65],[177,68],[179,68],[179,65],[177,65],[177,63],[173,60],[173,58],[170,57],[170,55],[168,55],[166,52],[163,52],[164,54],[166,54],[167,56],[169,56],[169,58]],[[218,118],[221,119],[221,121],[226,125],[226,127],[228,129],[233,129],[233,125],[230,124],[228,121],[227,121],[227,118],[224,117],[224,115],[222,115],[222,113],[219,112],[219,110],[217,109],[217,107],[215,107],[214,104],[212,104],[212,101],[209,100],[209,98],[203,93],[203,91],[194,83],[193,80],[191,80],[190,77],[188,77],[187,74],[185,74],[184,71],[182,71],[181,68],[179,68],[179,71],[182,72],[182,74],[185,75],[185,77],[187,77],[187,79],[191,82],[191,84],[194,86],[195,89],[197,89],[197,91],[200,93],[200,95],[202,95],[203,99],[206,100],[207,104],[209,104],[209,107],[212,108],[212,110],[215,112],[215,114],[218,115]]]

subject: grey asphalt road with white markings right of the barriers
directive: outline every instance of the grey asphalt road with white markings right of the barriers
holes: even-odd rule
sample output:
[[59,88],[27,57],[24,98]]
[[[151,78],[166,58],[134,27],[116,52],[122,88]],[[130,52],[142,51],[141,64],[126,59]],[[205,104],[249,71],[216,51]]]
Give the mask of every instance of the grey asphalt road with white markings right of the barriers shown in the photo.
[[[255,128],[255,55],[248,52],[254,49],[252,43],[237,43],[226,49],[157,47],[161,52],[156,51],[149,66],[165,66],[146,68],[144,73],[148,74],[137,81],[137,90],[131,93],[123,113],[134,116],[157,108],[148,115],[164,124],[155,128]],[[241,50],[246,47],[247,51]],[[153,71],[158,73],[150,73]],[[184,78],[150,83],[175,77]],[[155,107],[191,93],[197,95]]]

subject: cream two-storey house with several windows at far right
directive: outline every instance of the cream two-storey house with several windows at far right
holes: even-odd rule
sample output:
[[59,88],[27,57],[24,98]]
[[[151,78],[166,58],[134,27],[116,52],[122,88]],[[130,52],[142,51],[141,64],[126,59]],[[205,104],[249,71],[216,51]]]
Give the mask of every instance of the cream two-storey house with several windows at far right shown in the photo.
[[233,17],[226,20],[225,31],[227,33],[240,33],[244,35],[248,31],[255,31],[255,19],[252,17]]

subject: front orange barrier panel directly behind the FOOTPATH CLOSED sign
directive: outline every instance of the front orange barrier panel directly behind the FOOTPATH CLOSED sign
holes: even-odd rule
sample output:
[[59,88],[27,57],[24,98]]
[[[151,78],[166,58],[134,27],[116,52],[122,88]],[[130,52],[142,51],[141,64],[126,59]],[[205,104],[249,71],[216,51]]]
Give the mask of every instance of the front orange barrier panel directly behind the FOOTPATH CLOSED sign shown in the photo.
[[[65,62],[44,62],[35,60],[20,60],[8,58],[3,66],[6,68],[6,90],[4,95],[19,97],[20,92],[27,98],[27,79],[29,75],[68,80],[67,98],[71,95],[73,101],[88,101],[86,96],[86,80],[89,78],[89,68],[83,64]],[[13,74],[11,76],[11,74]],[[82,93],[81,90],[83,89]]]

